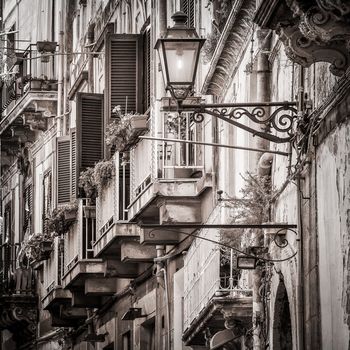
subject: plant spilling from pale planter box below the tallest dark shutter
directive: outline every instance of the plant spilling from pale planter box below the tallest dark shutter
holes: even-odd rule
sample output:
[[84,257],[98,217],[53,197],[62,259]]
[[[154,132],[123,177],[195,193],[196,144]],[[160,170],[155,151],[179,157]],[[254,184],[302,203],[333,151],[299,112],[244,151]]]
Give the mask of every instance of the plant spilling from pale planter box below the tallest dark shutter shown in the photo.
[[115,119],[106,128],[106,144],[119,152],[127,151],[147,130],[147,116],[138,113],[122,114],[120,106],[114,109]]

